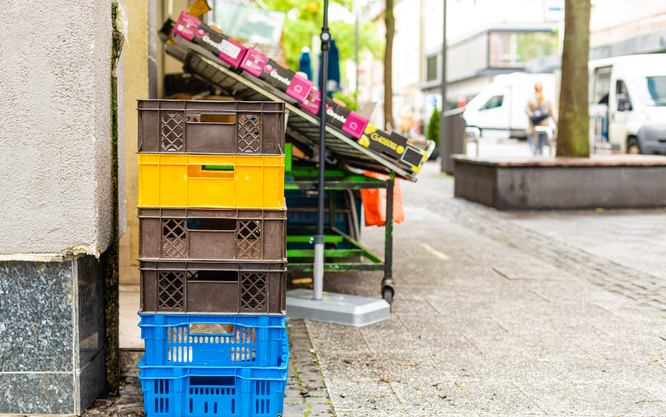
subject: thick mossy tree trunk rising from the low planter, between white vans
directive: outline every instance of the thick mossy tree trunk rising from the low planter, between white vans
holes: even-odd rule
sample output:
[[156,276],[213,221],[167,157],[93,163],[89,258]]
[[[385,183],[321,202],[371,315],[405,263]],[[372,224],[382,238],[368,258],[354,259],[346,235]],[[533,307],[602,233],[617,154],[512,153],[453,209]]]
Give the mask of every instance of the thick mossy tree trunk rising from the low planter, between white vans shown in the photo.
[[590,0],[565,0],[556,156],[589,158],[587,61]]

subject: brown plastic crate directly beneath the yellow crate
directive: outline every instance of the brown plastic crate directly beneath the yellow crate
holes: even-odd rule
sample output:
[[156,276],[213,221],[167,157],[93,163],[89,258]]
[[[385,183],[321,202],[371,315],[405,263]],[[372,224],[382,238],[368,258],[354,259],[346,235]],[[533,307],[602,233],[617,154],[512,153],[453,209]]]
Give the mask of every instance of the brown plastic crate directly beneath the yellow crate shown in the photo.
[[287,262],[287,210],[139,208],[139,259]]

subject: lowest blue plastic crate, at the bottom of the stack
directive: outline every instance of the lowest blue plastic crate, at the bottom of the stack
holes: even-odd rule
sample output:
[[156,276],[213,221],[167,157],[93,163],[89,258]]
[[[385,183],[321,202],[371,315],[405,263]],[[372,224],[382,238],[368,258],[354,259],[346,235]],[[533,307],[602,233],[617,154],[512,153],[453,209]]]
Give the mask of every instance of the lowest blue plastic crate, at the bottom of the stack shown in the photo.
[[275,417],[282,413],[289,354],[282,366],[174,368],[141,359],[143,409],[148,417]]

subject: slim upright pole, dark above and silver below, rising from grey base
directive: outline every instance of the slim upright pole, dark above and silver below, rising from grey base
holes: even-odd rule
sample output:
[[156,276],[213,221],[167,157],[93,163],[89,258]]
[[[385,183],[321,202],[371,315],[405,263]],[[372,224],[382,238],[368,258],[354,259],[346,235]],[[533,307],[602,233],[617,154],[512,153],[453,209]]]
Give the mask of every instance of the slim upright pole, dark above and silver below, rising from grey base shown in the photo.
[[317,235],[315,236],[315,264],[313,265],[313,300],[322,300],[324,291],[324,180],[326,165],[326,82],[328,80],[328,51],[331,34],[328,32],[328,0],[324,0],[324,25],[322,26],[322,60],[319,64],[319,184],[317,204]]

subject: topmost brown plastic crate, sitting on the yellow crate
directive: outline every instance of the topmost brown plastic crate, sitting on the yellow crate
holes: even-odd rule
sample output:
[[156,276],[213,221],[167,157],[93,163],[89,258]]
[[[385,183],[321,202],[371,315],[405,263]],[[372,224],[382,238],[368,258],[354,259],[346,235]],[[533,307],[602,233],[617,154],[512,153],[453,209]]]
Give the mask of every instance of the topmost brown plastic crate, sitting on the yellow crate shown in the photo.
[[285,155],[285,103],[138,100],[138,153]]

